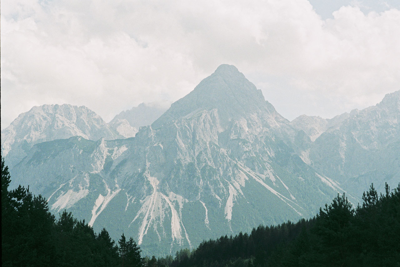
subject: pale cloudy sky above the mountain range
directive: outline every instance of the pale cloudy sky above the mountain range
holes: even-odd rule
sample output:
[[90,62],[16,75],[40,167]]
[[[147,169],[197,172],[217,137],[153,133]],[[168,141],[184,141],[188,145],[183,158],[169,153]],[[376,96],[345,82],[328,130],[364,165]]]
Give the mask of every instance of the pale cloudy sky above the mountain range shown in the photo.
[[106,122],[235,65],[285,118],[332,118],[400,89],[398,0],[0,2],[1,128],[35,105]]

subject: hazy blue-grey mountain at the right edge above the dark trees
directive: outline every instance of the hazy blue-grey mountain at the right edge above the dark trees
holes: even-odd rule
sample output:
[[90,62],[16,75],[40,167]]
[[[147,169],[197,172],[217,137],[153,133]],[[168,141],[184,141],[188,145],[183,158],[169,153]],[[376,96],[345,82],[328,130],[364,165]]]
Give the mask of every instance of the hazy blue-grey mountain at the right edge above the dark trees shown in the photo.
[[303,151],[310,166],[360,195],[372,182],[400,181],[400,91],[376,106],[354,110]]

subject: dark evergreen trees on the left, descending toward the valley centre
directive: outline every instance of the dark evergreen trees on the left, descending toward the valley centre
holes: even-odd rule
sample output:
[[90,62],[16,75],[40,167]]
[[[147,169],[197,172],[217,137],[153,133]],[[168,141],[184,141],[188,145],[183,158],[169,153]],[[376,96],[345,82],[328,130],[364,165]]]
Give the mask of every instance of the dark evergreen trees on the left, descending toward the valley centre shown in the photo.
[[[1,160],[2,266],[140,267],[140,247],[129,238],[125,254],[106,229],[93,228],[66,211],[58,220],[42,196],[19,186],[8,191],[10,174]],[[125,240],[122,234],[121,239]]]

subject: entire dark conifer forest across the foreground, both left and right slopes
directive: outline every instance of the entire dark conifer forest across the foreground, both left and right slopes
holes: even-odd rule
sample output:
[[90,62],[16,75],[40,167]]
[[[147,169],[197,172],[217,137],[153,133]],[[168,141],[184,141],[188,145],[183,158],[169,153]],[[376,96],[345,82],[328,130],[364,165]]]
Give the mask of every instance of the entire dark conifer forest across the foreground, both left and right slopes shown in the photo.
[[400,266],[400,184],[384,194],[371,185],[357,207],[338,194],[310,220],[260,225],[150,259],[124,233],[115,242],[66,211],[56,219],[29,188],[9,191],[4,160],[1,169],[2,266]]

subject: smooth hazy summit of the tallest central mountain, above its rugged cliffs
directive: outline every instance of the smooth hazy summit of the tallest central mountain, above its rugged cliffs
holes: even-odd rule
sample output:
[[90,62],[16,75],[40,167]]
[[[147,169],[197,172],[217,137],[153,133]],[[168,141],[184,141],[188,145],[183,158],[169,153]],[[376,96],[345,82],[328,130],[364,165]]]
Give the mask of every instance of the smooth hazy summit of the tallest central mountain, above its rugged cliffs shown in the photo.
[[157,129],[194,111],[212,109],[216,109],[220,119],[226,123],[232,118],[269,113],[261,90],[257,90],[235,66],[223,64],[203,79],[192,92],[172,103],[170,109],[152,127]]

